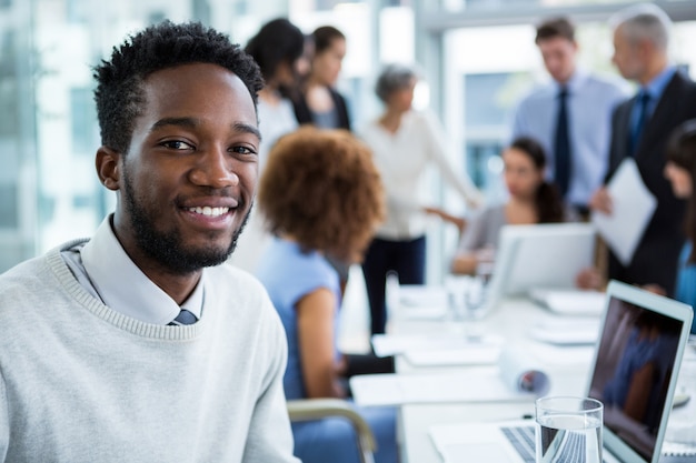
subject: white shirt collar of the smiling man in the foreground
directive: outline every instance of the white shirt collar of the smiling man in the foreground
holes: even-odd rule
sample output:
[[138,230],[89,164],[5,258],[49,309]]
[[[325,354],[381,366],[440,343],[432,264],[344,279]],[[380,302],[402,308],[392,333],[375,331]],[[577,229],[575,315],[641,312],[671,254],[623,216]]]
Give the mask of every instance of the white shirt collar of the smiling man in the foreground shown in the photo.
[[[179,304],[130,260],[111,229],[111,215],[101,222],[80,254],[95,290],[109,308],[153,324],[167,324],[179,314]],[[201,275],[191,295],[181,304],[198,319],[203,303],[202,282]]]

